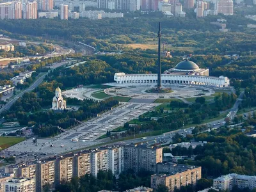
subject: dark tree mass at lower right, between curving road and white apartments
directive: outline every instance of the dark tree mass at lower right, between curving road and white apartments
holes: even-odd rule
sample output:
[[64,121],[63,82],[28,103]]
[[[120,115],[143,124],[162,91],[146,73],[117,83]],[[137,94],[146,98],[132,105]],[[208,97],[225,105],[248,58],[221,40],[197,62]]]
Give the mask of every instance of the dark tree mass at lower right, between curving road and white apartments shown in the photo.
[[218,177],[228,173],[255,175],[256,139],[248,137],[240,129],[222,128],[219,132],[204,132],[195,140],[207,141],[196,148],[175,147],[172,153],[178,156],[197,156],[195,161],[182,163],[202,166],[203,177]]

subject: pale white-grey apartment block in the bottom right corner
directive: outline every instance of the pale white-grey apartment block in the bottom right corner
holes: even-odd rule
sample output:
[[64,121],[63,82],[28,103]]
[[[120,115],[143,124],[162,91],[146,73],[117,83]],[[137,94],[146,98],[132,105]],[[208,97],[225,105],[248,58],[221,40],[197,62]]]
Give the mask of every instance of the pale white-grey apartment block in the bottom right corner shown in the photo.
[[238,175],[231,173],[222,175],[213,180],[213,188],[220,190],[231,190],[234,186],[238,188],[256,188],[256,176]]

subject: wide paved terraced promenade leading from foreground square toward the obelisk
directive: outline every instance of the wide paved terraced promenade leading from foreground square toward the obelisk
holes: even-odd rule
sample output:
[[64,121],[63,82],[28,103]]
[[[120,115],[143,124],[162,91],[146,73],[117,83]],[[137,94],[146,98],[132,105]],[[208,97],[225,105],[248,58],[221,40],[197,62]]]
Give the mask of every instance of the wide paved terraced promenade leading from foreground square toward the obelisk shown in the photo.
[[[134,118],[155,108],[158,104],[125,103],[102,115],[83,122],[74,129],[65,131],[55,138],[38,138],[34,143],[32,139],[22,141],[6,149],[12,154],[20,152],[38,154],[61,154],[70,150],[98,145],[102,141],[100,136],[120,127]],[[44,155],[41,155],[44,156]],[[32,156],[31,156],[32,157]],[[35,157],[35,156],[33,156]],[[36,157],[35,157],[36,158]]]

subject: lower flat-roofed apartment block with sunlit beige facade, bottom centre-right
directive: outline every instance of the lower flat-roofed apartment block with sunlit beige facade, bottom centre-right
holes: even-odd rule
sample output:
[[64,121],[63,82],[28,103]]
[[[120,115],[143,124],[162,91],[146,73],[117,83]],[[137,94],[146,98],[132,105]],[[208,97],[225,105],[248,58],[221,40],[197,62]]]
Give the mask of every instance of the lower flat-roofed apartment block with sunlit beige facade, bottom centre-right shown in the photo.
[[201,167],[186,164],[159,163],[157,174],[151,175],[151,188],[156,189],[159,184],[164,184],[169,191],[181,186],[196,184],[201,179]]

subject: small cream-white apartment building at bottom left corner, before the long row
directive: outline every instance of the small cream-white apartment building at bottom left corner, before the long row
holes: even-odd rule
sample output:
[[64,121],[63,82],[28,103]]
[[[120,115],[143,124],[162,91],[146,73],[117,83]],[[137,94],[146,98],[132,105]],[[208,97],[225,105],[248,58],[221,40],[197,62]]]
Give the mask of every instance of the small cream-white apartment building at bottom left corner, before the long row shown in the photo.
[[4,183],[5,191],[35,192],[35,179],[13,178]]

